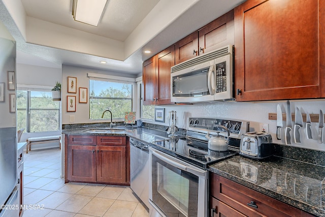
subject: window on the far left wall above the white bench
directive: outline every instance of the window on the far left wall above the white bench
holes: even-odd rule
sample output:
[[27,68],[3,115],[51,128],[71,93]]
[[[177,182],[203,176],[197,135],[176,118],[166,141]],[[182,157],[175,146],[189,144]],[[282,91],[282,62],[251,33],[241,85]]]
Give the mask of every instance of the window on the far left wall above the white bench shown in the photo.
[[17,129],[25,132],[59,130],[59,103],[51,91],[17,90]]

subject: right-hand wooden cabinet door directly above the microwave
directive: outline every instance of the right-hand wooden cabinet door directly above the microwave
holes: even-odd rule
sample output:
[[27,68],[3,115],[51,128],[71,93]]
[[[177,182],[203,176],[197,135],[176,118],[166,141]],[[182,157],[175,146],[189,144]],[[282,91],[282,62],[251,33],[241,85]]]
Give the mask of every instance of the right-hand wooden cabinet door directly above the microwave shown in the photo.
[[207,53],[234,42],[234,10],[199,30],[199,53]]

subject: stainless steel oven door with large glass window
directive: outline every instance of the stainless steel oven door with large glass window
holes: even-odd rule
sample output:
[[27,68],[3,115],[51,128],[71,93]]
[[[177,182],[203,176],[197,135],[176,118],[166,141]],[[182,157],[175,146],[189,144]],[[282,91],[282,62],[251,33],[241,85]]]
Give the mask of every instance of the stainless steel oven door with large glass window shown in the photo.
[[207,170],[152,147],[149,162],[149,202],[155,213],[164,217],[207,216]]

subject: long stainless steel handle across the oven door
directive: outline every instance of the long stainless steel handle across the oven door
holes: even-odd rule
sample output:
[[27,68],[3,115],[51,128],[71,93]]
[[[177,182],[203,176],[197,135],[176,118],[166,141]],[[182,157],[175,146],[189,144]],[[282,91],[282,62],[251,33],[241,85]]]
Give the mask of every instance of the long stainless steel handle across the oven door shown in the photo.
[[165,161],[166,163],[173,165],[174,167],[177,167],[178,169],[190,172],[192,174],[195,175],[204,175],[206,174],[206,170],[202,170],[200,168],[196,168],[190,164],[186,164],[185,162],[181,162],[181,161],[177,161],[177,159],[173,159],[170,156],[168,156],[167,154],[165,154],[164,152],[158,151],[156,149],[153,149],[151,147],[149,147],[149,149],[152,151],[151,153],[159,158],[162,161]]

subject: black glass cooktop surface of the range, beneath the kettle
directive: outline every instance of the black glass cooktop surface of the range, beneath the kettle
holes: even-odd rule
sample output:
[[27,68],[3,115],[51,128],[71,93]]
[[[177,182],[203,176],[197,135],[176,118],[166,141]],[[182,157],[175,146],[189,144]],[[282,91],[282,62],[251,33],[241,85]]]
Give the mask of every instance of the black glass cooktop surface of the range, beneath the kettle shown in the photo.
[[213,151],[208,149],[207,142],[190,138],[176,138],[152,143],[155,145],[154,148],[204,169],[210,164],[235,156],[239,152],[235,149]]

